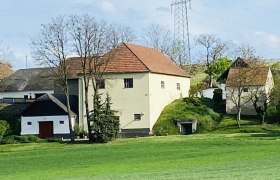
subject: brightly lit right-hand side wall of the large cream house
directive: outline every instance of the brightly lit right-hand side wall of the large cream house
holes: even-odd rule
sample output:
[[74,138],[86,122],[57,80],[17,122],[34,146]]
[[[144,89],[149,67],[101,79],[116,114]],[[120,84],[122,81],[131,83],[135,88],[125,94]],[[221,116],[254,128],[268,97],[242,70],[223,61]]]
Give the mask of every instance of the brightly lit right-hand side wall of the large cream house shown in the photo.
[[[164,81],[164,88],[161,88],[161,81]],[[177,83],[180,83],[180,90],[177,90]],[[149,87],[150,129],[152,129],[166,105],[175,99],[188,97],[190,78],[150,73]]]

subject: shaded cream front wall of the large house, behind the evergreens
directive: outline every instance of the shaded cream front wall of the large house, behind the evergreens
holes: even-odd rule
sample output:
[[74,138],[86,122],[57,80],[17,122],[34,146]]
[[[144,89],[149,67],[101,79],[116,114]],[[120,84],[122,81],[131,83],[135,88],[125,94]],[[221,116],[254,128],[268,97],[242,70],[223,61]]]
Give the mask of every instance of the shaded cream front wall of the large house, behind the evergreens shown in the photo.
[[[118,111],[121,129],[149,128],[149,73],[106,74],[105,89],[99,89],[102,99],[109,93],[112,109]],[[133,88],[124,88],[124,78],[133,78]],[[89,88],[89,107],[93,109],[93,88]],[[134,114],[142,114],[134,120]],[[85,118],[84,118],[85,119]]]

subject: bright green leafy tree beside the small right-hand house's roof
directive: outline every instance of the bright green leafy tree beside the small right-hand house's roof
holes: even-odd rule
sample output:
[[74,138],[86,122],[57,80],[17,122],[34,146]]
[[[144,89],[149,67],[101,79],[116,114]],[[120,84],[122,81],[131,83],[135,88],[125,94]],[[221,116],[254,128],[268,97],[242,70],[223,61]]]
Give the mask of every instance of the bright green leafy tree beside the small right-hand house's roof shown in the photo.
[[232,64],[228,58],[217,59],[206,71],[206,74],[211,74],[214,78],[220,77]]

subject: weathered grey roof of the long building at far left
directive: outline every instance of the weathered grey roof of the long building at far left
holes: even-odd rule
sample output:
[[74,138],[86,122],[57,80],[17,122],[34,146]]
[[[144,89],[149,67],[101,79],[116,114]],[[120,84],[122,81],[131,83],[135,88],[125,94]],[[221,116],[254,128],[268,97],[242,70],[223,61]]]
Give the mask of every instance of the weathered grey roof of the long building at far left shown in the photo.
[[53,68],[19,69],[0,82],[0,92],[54,89]]

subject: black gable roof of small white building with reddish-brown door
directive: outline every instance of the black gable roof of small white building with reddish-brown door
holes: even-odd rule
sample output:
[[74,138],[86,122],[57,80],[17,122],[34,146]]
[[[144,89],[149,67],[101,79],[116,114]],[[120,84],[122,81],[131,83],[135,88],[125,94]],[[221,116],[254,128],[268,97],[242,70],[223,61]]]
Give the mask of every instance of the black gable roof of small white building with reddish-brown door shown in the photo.
[[[69,97],[72,115],[78,115],[78,97]],[[67,115],[66,98],[62,95],[45,94],[33,102],[22,116],[56,116]]]

